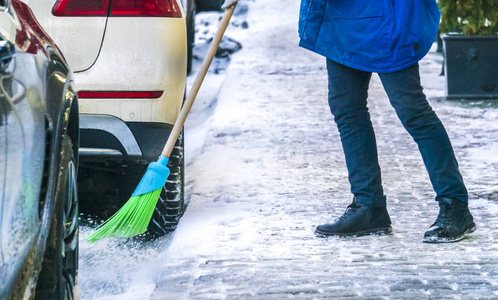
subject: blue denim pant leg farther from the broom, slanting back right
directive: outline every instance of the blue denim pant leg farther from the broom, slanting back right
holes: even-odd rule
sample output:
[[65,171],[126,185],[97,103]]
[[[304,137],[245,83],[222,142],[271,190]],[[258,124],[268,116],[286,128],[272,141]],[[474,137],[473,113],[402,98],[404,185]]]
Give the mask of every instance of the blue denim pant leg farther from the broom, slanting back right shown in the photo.
[[418,64],[379,76],[401,123],[418,145],[436,200],[453,198],[467,203],[467,189],[453,147],[422,91]]

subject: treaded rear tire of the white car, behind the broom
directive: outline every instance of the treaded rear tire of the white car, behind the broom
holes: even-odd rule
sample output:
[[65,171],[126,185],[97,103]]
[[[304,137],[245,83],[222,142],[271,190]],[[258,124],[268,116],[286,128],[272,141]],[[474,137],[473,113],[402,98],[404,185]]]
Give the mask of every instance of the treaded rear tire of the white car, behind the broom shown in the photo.
[[170,175],[161,191],[161,196],[147,230],[148,235],[152,237],[160,237],[174,231],[185,212],[183,132],[178,137],[175,148],[173,148],[168,168]]

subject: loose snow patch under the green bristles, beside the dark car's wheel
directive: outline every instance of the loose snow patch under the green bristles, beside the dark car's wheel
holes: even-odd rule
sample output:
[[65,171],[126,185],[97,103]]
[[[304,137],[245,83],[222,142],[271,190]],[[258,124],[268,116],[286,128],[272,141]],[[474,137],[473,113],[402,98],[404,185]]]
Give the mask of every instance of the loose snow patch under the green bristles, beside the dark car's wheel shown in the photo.
[[133,239],[106,239],[89,244],[84,238],[90,233],[90,228],[81,228],[81,299],[149,299],[159,276],[160,269],[156,266],[161,263],[159,254],[163,244]]

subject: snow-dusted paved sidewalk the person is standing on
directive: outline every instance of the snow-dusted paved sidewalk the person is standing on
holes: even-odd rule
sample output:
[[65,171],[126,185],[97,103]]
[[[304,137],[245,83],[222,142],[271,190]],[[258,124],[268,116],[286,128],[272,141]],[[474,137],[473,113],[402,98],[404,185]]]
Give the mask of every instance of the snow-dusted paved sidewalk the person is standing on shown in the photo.
[[460,243],[423,244],[434,193],[374,76],[369,105],[394,234],[316,238],[315,226],[352,198],[325,60],[297,47],[298,0],[246,3],[249,28],[228,32],[244,48],[188,165],[190,205],[160,254],[151,299],[498,298],[498,105],[441,100],[440,55],[421,62],[478,226]]

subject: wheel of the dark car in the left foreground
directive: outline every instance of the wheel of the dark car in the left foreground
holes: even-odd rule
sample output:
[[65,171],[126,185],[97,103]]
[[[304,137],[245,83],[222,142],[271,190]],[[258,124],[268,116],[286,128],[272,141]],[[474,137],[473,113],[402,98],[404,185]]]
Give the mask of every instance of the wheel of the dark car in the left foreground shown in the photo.
[[71,140],[64,138],[55,207],[35,299],[77,299],[78,194],[77,161]]

